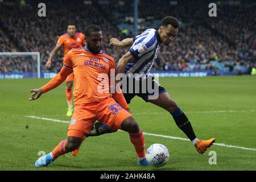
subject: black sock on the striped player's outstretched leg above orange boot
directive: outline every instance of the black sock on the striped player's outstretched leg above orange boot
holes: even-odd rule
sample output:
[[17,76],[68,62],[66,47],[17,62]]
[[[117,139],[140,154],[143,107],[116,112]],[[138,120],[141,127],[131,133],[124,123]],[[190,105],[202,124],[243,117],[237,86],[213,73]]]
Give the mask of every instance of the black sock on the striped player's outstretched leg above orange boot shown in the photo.
[[187,116],[180,109],[180,107],[171,113],[171,115],[174,118],[176,125],[187,135],[191,141],[196,138],[191,123],[189,122]]

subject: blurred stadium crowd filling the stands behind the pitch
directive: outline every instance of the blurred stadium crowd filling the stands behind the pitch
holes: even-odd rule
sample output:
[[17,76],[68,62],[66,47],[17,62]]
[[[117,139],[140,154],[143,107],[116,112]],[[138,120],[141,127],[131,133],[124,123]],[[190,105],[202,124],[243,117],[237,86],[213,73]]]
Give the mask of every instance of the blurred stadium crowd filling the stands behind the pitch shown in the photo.
[[[80,3],[78,3],[80,2]],[[42,70],[55,47],[57,39],[66,32],[69,22],[75,23],[77,31],[83,32],[88,24],[99,24],[104,32],[104,48],[116,61],[128,48],[109,47],[112,37],[123,39],[133,34],[133,4],[130,1],[47,1],[47,16],[39,18],[37,1],[15,6],[15,2],[2,2],[0,27],[10,40],[0,36],[0,51],[39,51]],[[109,2],[101,4],[102,2]],[[116,3],[118,2],[118,3]],[[175,1],[171,1],[175,2]],[[203,3],[204,2],[204,3]],[[256,61],[256,11],[255,3],[226,5],[218,3],[217,17],[208,16],[205,1],[139,1],[139,32],[146,28],[158,28],[160,20],[175,16],[181,22],[179,35],[171,46],[162,46],[153,69],[159,71],[199,71],[249,73]],[[205,5],[205,6],[203,6]],[[199,8],[201,7],[201,8]],[[237,11],[233,11],[234,8]],[[35,11],[36,10],[36,11]],[[55,18],[57,17],[57,18]],[[127,28],[126,34],[122,30]],[[51,67],[58,72],[62,66],[63,52],[59,52]],[[22,58],[1,60],[0,72],[33,71],[34,66],[23,68]],[[26,61],[25,61],[26,62]],[[21,64],[22,63],[22,64]],[[29,64],[29,63],[28,63]]]

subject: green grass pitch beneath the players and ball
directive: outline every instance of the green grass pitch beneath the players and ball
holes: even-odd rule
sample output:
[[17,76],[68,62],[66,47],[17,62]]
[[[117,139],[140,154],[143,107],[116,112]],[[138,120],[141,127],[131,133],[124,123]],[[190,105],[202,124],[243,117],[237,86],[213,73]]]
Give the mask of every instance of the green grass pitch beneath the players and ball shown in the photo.
[[[139,167],[129,135],[123,131],[87,138],[79,155],[61,156],[46,168],[34,168],[39,151],[50,152],[67,135],[65,83],[28,101],[29,90],[45,79],[0,80],[0,170],[255,170],[256,151],[213,145],[200,155],[187,140],[145,135],[146,147],[162,143],[170,160],[162,168]],[[159,82],[187,114],[199,139],[256,148],[256,77],[160,78]],[[167,111],[136,97],[131,111],[142,131],[186,138]],[[209,112],[210,111],[210,112]],[[27,126],[27,127],[26,127]],[[217,164],[209,164],[209,151]]]

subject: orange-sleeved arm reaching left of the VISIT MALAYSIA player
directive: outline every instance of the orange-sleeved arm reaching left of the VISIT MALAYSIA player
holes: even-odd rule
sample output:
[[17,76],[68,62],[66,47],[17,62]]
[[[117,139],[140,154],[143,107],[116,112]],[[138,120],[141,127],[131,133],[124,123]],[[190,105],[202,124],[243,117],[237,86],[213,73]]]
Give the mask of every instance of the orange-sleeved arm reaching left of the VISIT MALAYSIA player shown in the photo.
[[38,99],[43,93],[48,92],[59,86],[65,79],[71,74],[73,71],[65,66],[61,68],[60,73],[58,73],[55,77],[52,78],[46,85],[42,86],[39,89],[32,89],[30,92],[32,93],[30,97],[30,101]]

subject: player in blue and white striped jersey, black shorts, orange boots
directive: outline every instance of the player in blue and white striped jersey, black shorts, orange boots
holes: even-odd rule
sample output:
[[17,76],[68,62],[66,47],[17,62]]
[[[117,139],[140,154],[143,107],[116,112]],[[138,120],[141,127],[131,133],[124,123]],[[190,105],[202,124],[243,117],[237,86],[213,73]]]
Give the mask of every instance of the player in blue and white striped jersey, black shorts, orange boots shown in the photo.
[[[135,36],[134,38],[127,38],[119,42],[118,39],[112,38],[110,39],[110,46],[115,47],[130,47],[129,52],[119,59],[117,65],[117,75],[118,73],[125,73],[127,81],[125,88],[129,90],[129,87],[133,87],[133,92],[127,92],[124,90],[124,86],[122,85],[123,96],[125,96],[127,104],[130,104],[130,101],[135,96],[139,96],[143,98],[146,102],[151,102],[152,104],[162,107],[167,110],[174,121],[185,135],[191,140],[194,144],[196,150],[199,154],[204,154],[208,147],[210,147],[215,139],[209,140],[199,140],[197,139],[191,122],[177,105],[177,103],[172,100],[167,90],[160,85],[154,77],[150,76],[150,69],[154,64],[154,60],[158,56],[159,47],[164,44],[164,46],[168,46],[173,42],[174,38],[177,36],[179,31],[179,22],[173,16],[166,16],[162,19],[162,24],[158,30],[153,28],[147,29],[141,35]],[[133,79],[132,81],[129,81]],[[152,80],[152,81],[151,81]],[[139,93],[134,92],[134,88],[136,87],[134,84],[135,81],[139,81]],[[146,81],[148,84],[152,82],[151,85],[154,86],[154,90],[157,90],[154,93],[157,94],[158,97],[151,99],[150,96],[152,93],[149,92],[148,88],[146,88],[146,92],[143,91],[143,81]],[[132,84],[130,84],[132,83]],[[157,89],[155,89],[158,87]],[[135,88],[136,89],[136,88]],[[90,131],[90,136],[97,136],[105,133],[112,133],[113,130],[108,129],[102,123],[95,123],[93,129]],[[77,151],[76,151],[77,152]]]

